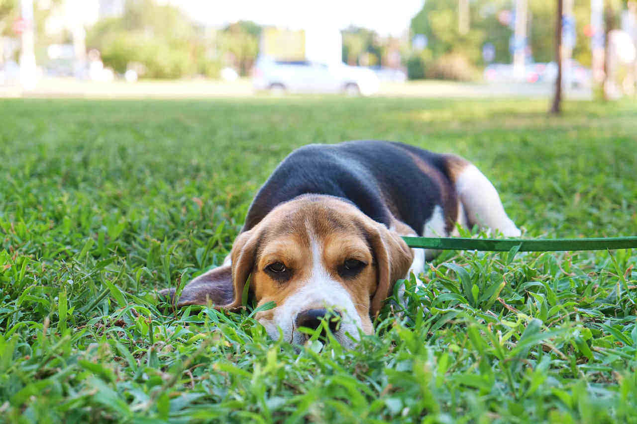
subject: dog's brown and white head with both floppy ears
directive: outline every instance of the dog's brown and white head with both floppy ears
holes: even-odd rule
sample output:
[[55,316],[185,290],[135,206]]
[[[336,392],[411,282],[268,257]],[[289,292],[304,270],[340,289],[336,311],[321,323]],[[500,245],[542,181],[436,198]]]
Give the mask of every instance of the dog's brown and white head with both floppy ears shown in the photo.
[[231,264],[187,285],[178,306],[208,301],[235,309],[250,277],[256,314],[269,336],[303,343],[299,327],[317,328],[325,316],[336,339],[352,346],[358,329],[373,332],[383,300],[403,278],[413,255],[403,239],[336,197],[304,195],[280,204],[234,241]]

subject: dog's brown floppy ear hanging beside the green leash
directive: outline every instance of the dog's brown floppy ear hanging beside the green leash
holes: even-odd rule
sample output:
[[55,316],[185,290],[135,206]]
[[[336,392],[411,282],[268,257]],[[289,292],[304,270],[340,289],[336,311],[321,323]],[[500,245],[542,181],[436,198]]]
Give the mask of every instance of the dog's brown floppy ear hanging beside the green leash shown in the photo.
[[368,226],[369,241],[374,250],[378,269],[378,286],[371,298],[369,314],[376,316],[383,300],[392,294],[397,279],[404,278],[412,265],[413,252],[403,238],[382,223]]

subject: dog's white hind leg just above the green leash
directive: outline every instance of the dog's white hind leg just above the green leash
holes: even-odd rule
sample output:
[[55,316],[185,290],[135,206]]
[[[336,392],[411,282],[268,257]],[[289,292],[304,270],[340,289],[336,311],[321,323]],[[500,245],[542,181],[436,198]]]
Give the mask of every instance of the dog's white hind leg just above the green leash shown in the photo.
[[457,174],[455,190],[470,225],[478,224],[480,227],[499,230],[506,237],[519,237],[522,234],[506,215],[496,188],[473,164],[467,163]]

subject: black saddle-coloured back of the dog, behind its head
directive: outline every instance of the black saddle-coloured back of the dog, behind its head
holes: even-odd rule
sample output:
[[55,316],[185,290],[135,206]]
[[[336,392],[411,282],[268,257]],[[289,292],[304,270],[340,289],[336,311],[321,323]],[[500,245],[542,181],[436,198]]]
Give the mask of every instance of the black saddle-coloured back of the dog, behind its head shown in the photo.
[[448,155],[389,141],[303,146],[290,153],[261,187],[243,231],[278,204],[303,194],[324,194],[353,202],[388,227],[394,215],[422,235],[436,205],[445,215],[453,212],[455,219],[457,197],[447,160]]

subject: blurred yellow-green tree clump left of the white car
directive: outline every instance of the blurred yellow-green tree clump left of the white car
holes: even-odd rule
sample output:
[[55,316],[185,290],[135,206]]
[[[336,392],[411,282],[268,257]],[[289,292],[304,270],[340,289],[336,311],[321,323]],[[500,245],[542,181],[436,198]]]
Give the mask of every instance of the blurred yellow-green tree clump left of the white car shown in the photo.
[[128,0],[124,15],[97,22],[87,46],[123,73],[130,64],[148,78],[217,77],[225,64],[247,75],[259,52],[261,27],[239,21],[220,31],[206,31],[170,4]]

